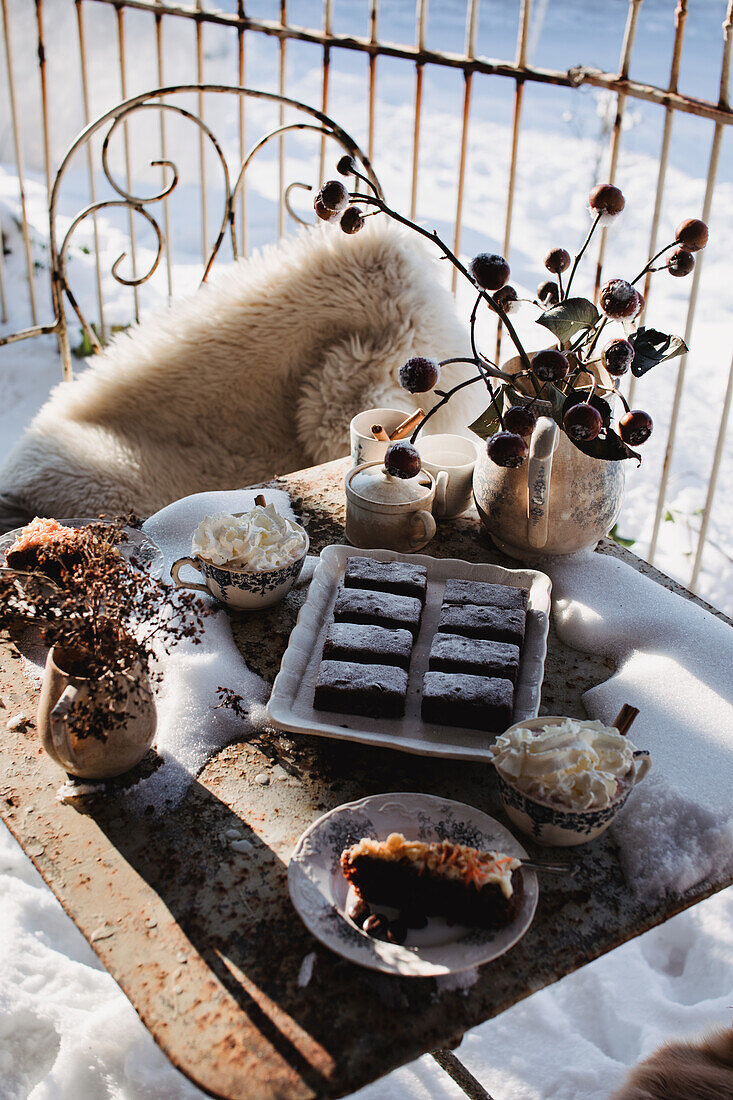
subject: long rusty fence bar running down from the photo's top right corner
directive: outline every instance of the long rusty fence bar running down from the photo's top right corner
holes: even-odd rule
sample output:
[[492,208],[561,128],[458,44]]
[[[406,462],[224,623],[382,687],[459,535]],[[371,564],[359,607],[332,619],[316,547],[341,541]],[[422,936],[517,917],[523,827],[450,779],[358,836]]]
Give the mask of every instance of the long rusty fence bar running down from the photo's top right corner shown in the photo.
[[[720,77],[720,102],[727,106],[729,96],[729,81],[731,75],[731,47],[733,46],[733,0],[729,0],[727,10],[725,13],[725,21],[723,23],[723,59],[721,64],[721,77]],[[718,164],[720,161],[720,148],[723,140],[723,127],[719,122],[715,124],[713,131],[712,147],[710,150],[710,162],[708,164],[708,182],[705,185],[705,197],[702,204],[702,220],[708,222],[710,220],[710,210],[712,207],[713,190],[715,187],[715,178],[718,176]],[[690,334],[692,332],[692,322],[694,320],[694,310],[698,302],[698,288],[700,286],[700,273],[702,271],[703,263],[703,252],[699,252],[696,257],[694,271],[692,273],[692,288],[690,290],[689,305],[687,307],[687,321],[685,323],[685,343],[690,343]],[[657,540],[659,538],[659,525],[661,522],[661,513],[665,505],[665,495],[667,492],[667,482],[669,481],[669,470],[671,466],[672,453],[675,451],[675,435],[677,432],[677,419],[679,417],[679,407],[682,398],[682,388],[685,386],[685,372],[687,370],[687,355],[682,355],[679,361],[679,366],[677,369],[677,384],[675,386],[675,397],[672,399],[672,409],[669,420],[669,431],[667,433],[667,448],[665,450],[664,463],[661,466],[661,477],[659,480],[659,492],[657,495],[657,507],[654,515],[654,525],[652,528],[652,539],[649,541],[649,552],[647,554],[647,561],[649,564],[654,563],[654,557],[657,551]]]

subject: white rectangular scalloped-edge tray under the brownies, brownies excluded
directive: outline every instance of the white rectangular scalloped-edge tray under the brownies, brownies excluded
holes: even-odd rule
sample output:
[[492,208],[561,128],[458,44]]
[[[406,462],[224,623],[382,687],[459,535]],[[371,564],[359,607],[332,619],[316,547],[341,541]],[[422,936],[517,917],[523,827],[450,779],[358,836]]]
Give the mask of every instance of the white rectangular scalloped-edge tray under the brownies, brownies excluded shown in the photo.
[[[324,639],[331,622],[336,594],[343,580],[347,560],[358,556],[375,558],[378,561],[411,562],[424,565],[427,570],[427,597],[419,634],[413,647],[404,718],[336,714],[318,711],[313,705]],[[300,608],[273,684],[267,704],[267,716],[273,725],[293,733],[362,741],[365,745],[396,748],[422,756],[490,760],[495,734],[437,725],[424,722],[420,715],[423,676],[427,671],[430,644],[449,578],[489,581],[528,590],[527,626],[514,691],[512,723],[536,718],[545,674],[550,609],[550,580],[545,573],[534,569],[474,564],[455,558],[429,558],[426,554],[402,554],[392,550],[358,550],[350,546],[331,546],[321,551],[308,596]]]

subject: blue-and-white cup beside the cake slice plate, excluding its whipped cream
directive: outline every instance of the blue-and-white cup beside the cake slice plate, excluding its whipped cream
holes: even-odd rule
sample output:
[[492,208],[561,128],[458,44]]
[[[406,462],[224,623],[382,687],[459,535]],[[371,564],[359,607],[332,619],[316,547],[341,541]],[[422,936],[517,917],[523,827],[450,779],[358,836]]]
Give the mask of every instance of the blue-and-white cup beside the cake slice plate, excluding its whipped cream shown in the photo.
[[[510,726],[506,733],[519,727],[522,729],[544,729],[545,726],[556,726],[565,721],[565,717],[557,715],[541,715],[538,718],[517,722],[514,726]],[[630,777],[631,781],[624,785],[610,805],[599,810],[565,810],[562,806],[541,802],[539,799],[518,790],[494,766],[506,816],[537,844],[557,845],[558,847],[588,844],[589,840],[594,840],[597,836],[606,831],[633,788],[644,779],[652,767],[652,758],[645,749],[637,749],[634,757],[635,765]]]

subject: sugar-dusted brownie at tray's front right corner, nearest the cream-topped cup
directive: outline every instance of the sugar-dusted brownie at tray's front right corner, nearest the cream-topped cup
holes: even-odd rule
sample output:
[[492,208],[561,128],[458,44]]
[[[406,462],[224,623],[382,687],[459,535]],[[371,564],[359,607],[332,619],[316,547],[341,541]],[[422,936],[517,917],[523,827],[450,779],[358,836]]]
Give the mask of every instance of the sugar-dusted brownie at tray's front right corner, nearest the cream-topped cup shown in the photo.
[[511,726],[513,707],[511,680],[462,672],[425,673],[422,710],[426,722],[497,734]]

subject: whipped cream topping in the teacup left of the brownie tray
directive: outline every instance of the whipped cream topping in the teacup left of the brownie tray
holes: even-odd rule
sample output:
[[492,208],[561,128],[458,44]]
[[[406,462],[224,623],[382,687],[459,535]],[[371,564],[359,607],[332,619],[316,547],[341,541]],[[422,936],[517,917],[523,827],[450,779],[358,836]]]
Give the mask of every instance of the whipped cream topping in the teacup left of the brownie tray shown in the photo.
[[214,565],[259,573],[296,561],[305,547],[302,527],[274,504],[255,504],[241,516],[226,512],[206,516],[194,532],[192,553]]

